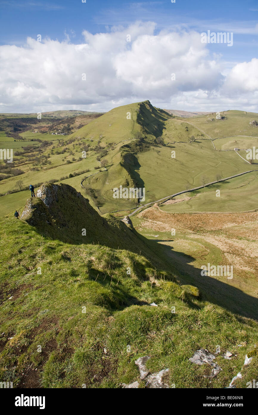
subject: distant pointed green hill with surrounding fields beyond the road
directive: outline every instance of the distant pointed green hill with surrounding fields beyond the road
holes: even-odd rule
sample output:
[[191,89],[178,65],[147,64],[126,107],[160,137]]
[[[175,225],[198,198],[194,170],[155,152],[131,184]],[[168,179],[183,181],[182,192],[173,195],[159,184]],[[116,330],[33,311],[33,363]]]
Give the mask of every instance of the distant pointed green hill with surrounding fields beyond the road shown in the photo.
[[[21,133],[23,139],[30,140],[27,142],[0,137],[1,145],[13,147],[17,154],[11,166],[22,171],[19,176],[12,171],[6,174],[0,164],[2,215],[26,203],[25,189],[30,183],[36,188],[47,181],[70,184],[83,191],[96,210],[106,214],[139,205],[135,199],[114,199],[113,188],[119,186],[145,188],[144,204],[201,186],[217,176],[257,169],[256,163],[251,165],[239,157],[245,158],[245,149],[257,144],[257,127],[252,123],[256,114],[225,111],[220,120],[214,113],[182,118],[144,101],[114,108],[96,119],[90,120],[90,116],[73,117],[77,120],[73,125],[76,131],[69,136]],[[84,124],[81,128],[79,120]],[[235,146],[241,149],[239,154]],[[86,158],[82,158],[84,149]],[[106,168],[101,168],[103,160]],[[20,180],[23,183],[18,192]],[[241,176],[238,183],[234,200],[239,203],[238,210],[245,210],[241,194],[246,177]],[[224,188],[226,183],[221,186]],[[214,210],[212,203],[208,199],[203,208]],[[251,198],[248,209],[255,208],[256,200]]]

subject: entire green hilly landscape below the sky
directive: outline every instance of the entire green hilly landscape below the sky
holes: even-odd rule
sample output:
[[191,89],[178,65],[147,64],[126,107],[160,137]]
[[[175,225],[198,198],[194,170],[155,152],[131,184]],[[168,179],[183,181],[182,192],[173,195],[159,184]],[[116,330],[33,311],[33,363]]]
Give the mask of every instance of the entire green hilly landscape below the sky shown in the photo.
[[[0,161],[1,378],[121,388],[144,354],[170,385],[227,388],[257,356],[258,163],[246,150],[258,114],[146,100],[2,116],[0,147],[14,159]],[[232,278],[203,276],[207,264]],[[222,372],[207,378],[189,358],[217,345],[234,358],[216,356]],[[256,357],[236,387],[257,369]]]

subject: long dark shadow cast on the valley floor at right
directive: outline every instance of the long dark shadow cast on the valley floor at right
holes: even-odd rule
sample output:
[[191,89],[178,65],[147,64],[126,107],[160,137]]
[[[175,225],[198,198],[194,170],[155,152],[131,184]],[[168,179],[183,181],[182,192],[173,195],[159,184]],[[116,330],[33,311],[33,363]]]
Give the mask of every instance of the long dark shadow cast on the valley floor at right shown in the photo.
[[[157,243],[157,241],[154,242]],[[233,280],[227,280],[227,276],[220,277],[225,278],[227,282],[219,281],[215,277],[201,276],[202,270],[190,264],[195,260],[192,256],[173,251],[169,245],[162,244],[162,246],[164,253],[173,260],[174,267],[180,272],[180,281],[198,287],[203,295],[203,300],[217,304],[242,317],[258,320],[258,298],[230,285],[231,281],[234,281],[234,275]]]

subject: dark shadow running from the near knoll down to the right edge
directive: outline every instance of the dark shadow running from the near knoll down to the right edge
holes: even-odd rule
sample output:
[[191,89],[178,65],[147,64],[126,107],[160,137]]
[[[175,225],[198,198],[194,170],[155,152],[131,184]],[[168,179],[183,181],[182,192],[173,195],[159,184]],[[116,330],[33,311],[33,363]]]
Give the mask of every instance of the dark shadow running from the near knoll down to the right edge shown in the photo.
[[[37,197],[33,200],[29,198],[27,210],[24,209],[27,217],[25,216],[23,220],[34,227],[38,234],[70,244],[95,244],[99,247],[102,245],[142,255],[149,261],[149,264],[146,263],[144,266],[148,267],[152,264],[152,267],[156,267],[159,271],[170,273],[176,269],[181,281],[197,286],[205,300],[243,317],[258,320],[258,299],[229,285],[231,280],[223,282],[212,277],[202,277],[201,270],[191,265],[194,258],[173,251],[168,244],[158,244],[155,239],[145,238],[135,229],[128,228],[125,223],[115,218],[105,219],[99,216],[89,205],[88,200],[82,198],[71,186],[60,185],[56,189],[50,183],[46,188],[48,193],[53,193],[51,208]],[[26,230],[23,220],[17,222],[17,227],[21,227],[22,232]],[[82,231],[86,232],[85,236]],[[65,258],[65,253],[63,259],[69,261],[68,257]],[[121,266],[124,267],[125,264]],[[139,277],[144,277],[145,270],[140,269],[139,266],[138,269]]]

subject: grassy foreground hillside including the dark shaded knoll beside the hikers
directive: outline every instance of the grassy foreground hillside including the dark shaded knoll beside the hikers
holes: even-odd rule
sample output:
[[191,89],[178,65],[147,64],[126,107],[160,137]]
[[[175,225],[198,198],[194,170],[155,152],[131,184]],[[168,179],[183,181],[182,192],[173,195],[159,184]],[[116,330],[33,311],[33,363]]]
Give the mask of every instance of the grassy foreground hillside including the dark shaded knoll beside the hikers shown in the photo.
[[[247,353],[254,359],[236,386],[256,378],[258,325],[241,312],[241,302],[255,312],[248,295],[213,278],[207,292],[182,285],[189,265],[176,272],[164,247],[100,217],[70,186],[46,183],[39,196],[22,220],[0,219],[0,381],[118,388],[138,380],[144,388],[134,362],[148,355],[152,373],[169,369],[169,386],[224,388]],[[239,314],[220,305],[223,286]],[[222,371],[207,378],[209,366],[188,359],[218,344]],[[227,350],[233,359],[224,359]]]

